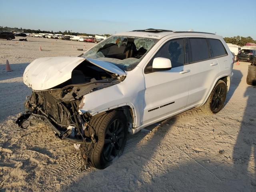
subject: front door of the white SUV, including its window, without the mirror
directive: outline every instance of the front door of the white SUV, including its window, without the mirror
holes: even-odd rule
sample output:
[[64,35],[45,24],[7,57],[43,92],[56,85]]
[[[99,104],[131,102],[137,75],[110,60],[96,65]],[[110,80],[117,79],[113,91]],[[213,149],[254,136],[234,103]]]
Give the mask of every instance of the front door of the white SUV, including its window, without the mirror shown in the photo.
[[157,57],[168,58],[172,62],[170,70],[150,72],[146,67],[143,123],[185,108],[191,74],[185,45],[184,38],[167,41],[148,64],[152,66]]

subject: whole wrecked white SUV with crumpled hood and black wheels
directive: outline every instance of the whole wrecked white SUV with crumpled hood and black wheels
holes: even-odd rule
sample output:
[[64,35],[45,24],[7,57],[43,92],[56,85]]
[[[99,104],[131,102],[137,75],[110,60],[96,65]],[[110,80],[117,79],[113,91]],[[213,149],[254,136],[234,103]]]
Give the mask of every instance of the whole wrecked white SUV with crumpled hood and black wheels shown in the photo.
[[109,166],[128,132],[200,107],[224,106],[233,55],[221,36],[134,30],[110,36],[78,57],[38,58],[24,72],[32,88],[22,126],[46,122],[80,148],[86,164]]

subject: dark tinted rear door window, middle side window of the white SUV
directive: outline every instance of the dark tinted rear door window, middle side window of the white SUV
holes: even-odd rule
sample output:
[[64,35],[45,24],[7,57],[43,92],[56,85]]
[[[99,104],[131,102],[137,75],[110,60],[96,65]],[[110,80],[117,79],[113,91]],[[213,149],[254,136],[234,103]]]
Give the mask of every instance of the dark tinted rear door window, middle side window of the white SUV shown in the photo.
[[190,38],[192,62],[210,58],[209,47],[206,39]]

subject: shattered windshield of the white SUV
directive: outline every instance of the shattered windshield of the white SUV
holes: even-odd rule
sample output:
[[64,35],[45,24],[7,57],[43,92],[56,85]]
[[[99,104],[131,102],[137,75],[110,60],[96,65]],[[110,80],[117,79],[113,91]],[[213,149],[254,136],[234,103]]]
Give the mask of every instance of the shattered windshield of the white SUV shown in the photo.
[[125,71],[133,70],[146,53],[158,42],[158,39],[110,36],[82,57],[110,62]]

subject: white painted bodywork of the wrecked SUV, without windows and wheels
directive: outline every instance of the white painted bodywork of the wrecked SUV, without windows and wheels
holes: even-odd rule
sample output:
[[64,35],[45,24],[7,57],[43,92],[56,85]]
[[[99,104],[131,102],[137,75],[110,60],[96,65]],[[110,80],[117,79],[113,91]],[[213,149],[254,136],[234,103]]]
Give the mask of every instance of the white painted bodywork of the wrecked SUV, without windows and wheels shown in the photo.
[[[116,35],[143,37],[147,34],[152,33],[124,32]],[[228,55],[186,64],[168,71],[144,74],[146,65],[163,44],[175,38],[185,37],[220,39]],[[151,38],[153,37],[151,36]],[[80,105],[82,106],[80,108],[81,113],[89,112],[94,116],[120,106],[130,106],[134,118],[133,129],[130,132],[136,133],[145,126],[190,108],[201,106],[206,102],[210,92],[221,77],[228,76],[228,86],[230,85],[233,55],[221,36],[202,33],[162,32],[155,34],[154,38],[159,38],[159,41],[144,56],[137,67],[129,72],[123,72],[109,62],[87,58],[92,64],[120,76],[126,75],[126,78],[119,84],[86,94],[81,101],[83,103]],[[40,58],[26,68],[24,82],[34,90],[52,88],[71,78],[72,70],[85,59],[79,57]],[[170,66],[170,64],[168,65]],[[30,70],[29,73],[28,70]],[[42,81],[38,82],[38,79]],[[154,108],[157,109],[152,110]]]

